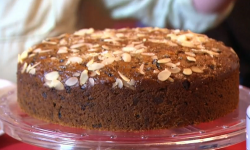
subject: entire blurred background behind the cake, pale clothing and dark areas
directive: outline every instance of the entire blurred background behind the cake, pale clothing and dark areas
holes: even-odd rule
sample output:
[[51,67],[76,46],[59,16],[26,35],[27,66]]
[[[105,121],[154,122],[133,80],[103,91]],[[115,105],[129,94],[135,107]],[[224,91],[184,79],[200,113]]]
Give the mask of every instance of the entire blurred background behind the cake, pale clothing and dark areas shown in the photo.
[[46,37],[82,28],[166,27],[204,33],[240,58],[250,87],[248,0],[1,0],[0,78],[16,82],[17,54]]

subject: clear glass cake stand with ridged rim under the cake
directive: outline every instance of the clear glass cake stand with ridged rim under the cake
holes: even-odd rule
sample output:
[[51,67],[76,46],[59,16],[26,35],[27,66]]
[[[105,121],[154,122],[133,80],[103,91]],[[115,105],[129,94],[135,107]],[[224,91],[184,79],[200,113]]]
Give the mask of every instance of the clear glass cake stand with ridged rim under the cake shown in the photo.
[[239,86],[239,107],[209,123],[171,130],[110,132],[64,127],[34,119],[17,104],[16,87],[0,97],[4,132],[25,143],[49,149],[217,149],[246,139],[250,90]]

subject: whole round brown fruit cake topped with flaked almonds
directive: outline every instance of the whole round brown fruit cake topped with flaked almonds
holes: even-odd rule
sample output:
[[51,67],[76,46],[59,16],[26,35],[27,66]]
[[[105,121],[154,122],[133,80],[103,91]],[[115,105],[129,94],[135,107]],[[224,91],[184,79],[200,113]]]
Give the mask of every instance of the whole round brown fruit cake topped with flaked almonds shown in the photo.
[[222,42],[161,28],[82,29],[18,56],[18,103],[51,123],[142,131],[209,122],[239,102],[239,59]]

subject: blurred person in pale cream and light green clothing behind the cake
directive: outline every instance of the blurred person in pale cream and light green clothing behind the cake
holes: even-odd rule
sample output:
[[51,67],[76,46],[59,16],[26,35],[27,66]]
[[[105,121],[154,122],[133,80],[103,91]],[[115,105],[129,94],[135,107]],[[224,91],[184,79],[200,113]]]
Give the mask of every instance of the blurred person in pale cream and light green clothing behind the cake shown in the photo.
[[[72,33],[84,20],[84,0],[1,0],[0,78],[16,81],[17,55],[46,37]],[[103,0],[113,19],[134,18],[146,26],[204,32],[223,21],[233,0]],[[85,7],[86,8],[86,7]],[[98,22],[99,20],[95,20]],[[101,24],[100,22],[99,24]],[[84,22],[83,22],[84,24]]]

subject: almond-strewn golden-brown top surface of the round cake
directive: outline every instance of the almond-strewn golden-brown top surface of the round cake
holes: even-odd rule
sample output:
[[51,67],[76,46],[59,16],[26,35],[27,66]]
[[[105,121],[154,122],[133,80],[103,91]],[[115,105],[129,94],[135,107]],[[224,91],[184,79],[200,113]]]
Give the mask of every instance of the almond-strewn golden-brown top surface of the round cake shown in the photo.
[[143,80],[207,78],[238,67],[235,52],[190,31],[161,28],[82,29],[44,40],[18,56],[20,73],[45,86],[111,84],[134,89]]

